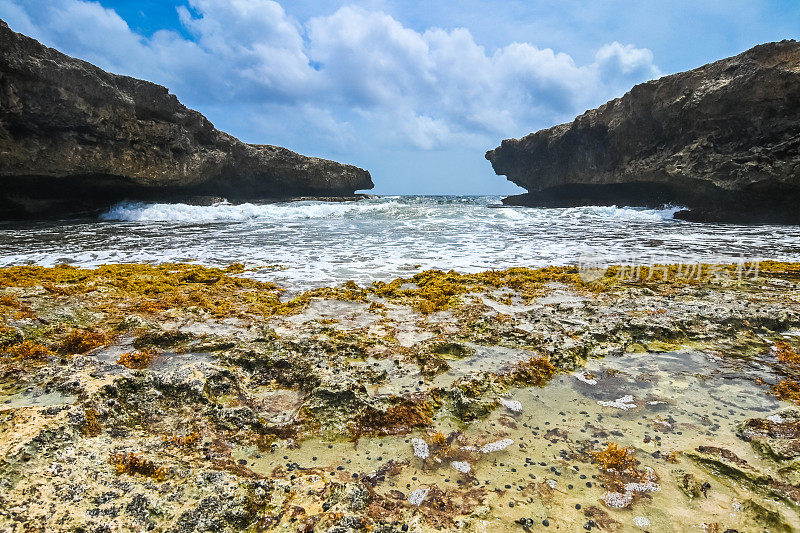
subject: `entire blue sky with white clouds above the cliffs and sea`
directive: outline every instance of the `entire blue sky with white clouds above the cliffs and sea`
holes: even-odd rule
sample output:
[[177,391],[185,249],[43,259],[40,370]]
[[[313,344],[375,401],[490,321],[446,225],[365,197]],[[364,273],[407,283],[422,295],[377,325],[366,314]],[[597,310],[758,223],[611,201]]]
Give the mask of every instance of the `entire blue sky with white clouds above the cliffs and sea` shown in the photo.
[[379,194],[514,194],[486,150],[634,84],[800,36],[797,0],[0,0],[12,29],[167,86]]

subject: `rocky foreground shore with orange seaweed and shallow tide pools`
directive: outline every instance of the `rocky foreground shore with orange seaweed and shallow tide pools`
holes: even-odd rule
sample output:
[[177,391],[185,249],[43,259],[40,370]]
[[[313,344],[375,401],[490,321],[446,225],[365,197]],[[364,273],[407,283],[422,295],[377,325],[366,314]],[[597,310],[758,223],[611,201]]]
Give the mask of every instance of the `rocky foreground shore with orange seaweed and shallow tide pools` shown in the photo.
[[0,269],[7,531],[800,528],[800,264]]

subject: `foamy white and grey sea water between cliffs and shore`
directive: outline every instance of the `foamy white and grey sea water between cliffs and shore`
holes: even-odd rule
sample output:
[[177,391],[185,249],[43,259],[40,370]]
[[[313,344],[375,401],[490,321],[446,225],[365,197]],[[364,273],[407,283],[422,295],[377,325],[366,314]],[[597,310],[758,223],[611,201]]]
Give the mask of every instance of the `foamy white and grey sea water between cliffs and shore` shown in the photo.
[[800,227],[696,224],[678,207],[496,208],[497,196],[359,202],[121,203],[99,218],[0,224],[0,266],[242,262],[290,290],[423,269],[800,261]]

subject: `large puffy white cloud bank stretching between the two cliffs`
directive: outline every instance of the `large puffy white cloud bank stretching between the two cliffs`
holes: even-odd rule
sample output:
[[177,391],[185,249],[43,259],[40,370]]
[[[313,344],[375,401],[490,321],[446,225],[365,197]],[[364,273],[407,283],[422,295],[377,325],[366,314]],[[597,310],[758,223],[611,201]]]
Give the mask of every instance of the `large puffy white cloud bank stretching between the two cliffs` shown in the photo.
[[190,38],[139,35],[98,2],[0,0],[0,17],[48,45],[165,84],[201,111],[230,105],[259,131],[294,130],[326,146],[361,136],[483,147],[660,75],[653,54],[631,44],[605,45],[579,65],[531,43],[487,50],[464,28],[419,32],[356,7],[298,21],[273,0],[189,0],[178,14]]

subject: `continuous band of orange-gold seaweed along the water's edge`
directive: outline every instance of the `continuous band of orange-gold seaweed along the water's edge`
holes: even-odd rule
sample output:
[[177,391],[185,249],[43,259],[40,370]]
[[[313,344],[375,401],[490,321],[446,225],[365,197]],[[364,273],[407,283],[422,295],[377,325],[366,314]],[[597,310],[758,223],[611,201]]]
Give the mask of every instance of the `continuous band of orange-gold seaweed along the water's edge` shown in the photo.
[[[686,271],[688,267],[695,270]],[[738,279],[740,273],[747,276],[755,271],[762,276],[800,277],[800,264],[774,261],[760,263],[757,270],[755,265],[688,267],[637,267],[638,278],[632,283],[653,283],[662,290],[672,290],[673,286],[713,282],[721,276]],[[281,301],[282,291],[274,284],[233,275],[245,271],[241,264],[225,269],[180,263],[117,264],[95,269],[20,266],[0,268],[0,289],[44,287],[57,295],[92,293],[99,300],[97,308],[109,318],[130,310],[159,314],[168,309],[200,311],[217,318],[288,315],[305,309],[312,298],[368,301],[370,296],[394,300],[430,314],[457,305],[462,295],[491,289],[513,289],[524,299],[543,294],[549,283],[570,285],[587,293],[608,291],[629,283],[621,274],[631,268],[611,267],[591,282],[582,279],[575,266],[510,268],[476,274],[426,270],[407,279],[376,282],[371,287],[359,287],[348,281],[341,287],[314,289]]]

